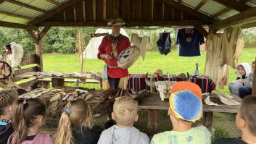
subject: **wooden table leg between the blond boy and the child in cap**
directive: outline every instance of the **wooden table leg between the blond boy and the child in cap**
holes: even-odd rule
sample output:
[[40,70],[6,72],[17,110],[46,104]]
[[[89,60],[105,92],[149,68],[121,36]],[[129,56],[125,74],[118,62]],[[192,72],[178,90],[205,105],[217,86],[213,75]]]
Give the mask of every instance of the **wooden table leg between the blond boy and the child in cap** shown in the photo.
[[149,109],[147,111],[147,130],[149,135],[160,132],[160,110]]

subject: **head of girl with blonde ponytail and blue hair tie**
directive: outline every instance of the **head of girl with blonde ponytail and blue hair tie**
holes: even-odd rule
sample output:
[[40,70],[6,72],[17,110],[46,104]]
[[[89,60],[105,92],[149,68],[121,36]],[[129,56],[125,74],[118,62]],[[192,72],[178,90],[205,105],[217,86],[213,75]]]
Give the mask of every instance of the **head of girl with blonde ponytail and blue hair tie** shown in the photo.
[[54,137],[55,144],[73,144],[73,128],[91,129],[92,114],[91,109],[85,99],[78,98],[70,101],[65,106],[64,112],[59,119],[57,134]]

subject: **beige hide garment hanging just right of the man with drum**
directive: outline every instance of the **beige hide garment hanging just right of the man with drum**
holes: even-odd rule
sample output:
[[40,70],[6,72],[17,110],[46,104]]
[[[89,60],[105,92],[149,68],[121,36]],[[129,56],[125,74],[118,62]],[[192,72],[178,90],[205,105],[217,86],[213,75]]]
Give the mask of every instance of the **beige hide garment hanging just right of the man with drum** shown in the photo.
[[132,33],[131,34],[131,44],[139,47],[139,49],[141,51],[142,59],[144,60],[145,55],[146,55],[146,46],[148,44],[151,45],[150,37],[146,36],[146,35],[138,35],[137,33]]

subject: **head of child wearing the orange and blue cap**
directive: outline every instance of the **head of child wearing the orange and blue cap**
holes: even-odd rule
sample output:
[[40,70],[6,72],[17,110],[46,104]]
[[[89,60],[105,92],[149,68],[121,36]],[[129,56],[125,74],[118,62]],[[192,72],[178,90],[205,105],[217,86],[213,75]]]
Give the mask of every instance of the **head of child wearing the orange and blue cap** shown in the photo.
[[170,109],[181,122],[192,123],[202,117],[202,90],[192,82],[176,82],[170,93]]

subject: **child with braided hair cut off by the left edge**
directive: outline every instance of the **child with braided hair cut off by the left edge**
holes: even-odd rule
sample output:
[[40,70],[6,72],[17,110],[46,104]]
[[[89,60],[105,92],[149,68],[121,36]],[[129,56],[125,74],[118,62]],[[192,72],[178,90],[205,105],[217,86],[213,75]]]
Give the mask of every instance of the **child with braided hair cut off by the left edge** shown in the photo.
[[12,103],[18,98],[16,90],[0,90],[0,143],[7,140],[15,130],[12,128]]

